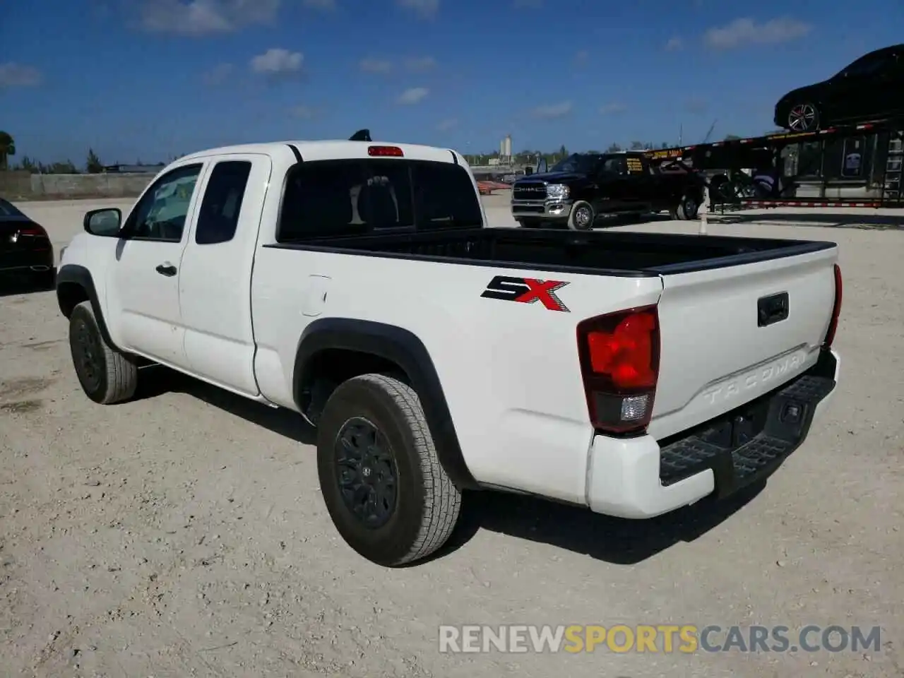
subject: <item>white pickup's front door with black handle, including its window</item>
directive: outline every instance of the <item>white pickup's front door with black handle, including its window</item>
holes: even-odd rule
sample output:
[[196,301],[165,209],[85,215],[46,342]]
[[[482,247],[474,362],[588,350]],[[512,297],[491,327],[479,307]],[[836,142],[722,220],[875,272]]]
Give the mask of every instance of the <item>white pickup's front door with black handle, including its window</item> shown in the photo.
[[148,187],[123,224],[108,269],[109,316],[118,342],[174,367],[185,365],[179,268],[203,168],[202,162],[180,165]]

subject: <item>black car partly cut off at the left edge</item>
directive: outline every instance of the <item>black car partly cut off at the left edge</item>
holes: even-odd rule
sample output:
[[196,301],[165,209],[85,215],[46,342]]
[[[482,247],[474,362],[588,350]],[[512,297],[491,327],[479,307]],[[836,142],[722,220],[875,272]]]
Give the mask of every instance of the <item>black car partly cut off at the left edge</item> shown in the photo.
[[0,198],[0,274],[27,276],[43,289],[53,286],[54,273],[47,231]]

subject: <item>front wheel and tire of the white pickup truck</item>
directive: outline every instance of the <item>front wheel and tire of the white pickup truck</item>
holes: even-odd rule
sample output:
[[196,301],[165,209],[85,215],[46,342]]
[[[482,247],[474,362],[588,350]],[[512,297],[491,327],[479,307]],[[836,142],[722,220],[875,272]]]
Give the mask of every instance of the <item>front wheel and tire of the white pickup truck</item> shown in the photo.
[[104,341],[89,301],[81,302],[72,310],[69,347],[76,376],[89,399],[101,405],[112,405],[135,395],[137,364]]

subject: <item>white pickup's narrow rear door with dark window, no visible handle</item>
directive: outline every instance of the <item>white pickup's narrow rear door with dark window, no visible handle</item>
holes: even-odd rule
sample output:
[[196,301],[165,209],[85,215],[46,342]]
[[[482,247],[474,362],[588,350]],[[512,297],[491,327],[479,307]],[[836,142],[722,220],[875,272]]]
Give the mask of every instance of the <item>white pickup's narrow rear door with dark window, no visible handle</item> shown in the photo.
[[194,374],[223,388],[258,395],[251,326],[251,269],[264,193],[267,155],[222,155],[199,188],[197,219],[180,273],[185,355]]

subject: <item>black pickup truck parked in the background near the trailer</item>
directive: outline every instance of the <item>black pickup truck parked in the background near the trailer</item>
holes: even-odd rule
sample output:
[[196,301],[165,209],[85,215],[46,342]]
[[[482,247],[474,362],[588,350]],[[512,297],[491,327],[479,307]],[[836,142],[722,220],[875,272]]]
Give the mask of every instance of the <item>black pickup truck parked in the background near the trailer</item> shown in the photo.
[[512,215],[524,228],[586,231],[600,214],[694,219],[703,199],[701,174],[661,172],[643,151],[575,153],[548,172],[543,164],[512,187]]

